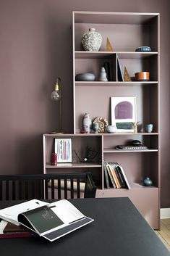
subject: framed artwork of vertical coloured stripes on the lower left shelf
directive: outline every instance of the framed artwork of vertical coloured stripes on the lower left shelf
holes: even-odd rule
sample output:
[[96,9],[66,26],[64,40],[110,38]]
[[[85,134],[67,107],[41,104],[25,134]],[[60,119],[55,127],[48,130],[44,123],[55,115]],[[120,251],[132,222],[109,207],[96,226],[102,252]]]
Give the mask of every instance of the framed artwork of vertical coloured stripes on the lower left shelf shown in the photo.
[[55,139],[57,162],[72,162],[72,139]]

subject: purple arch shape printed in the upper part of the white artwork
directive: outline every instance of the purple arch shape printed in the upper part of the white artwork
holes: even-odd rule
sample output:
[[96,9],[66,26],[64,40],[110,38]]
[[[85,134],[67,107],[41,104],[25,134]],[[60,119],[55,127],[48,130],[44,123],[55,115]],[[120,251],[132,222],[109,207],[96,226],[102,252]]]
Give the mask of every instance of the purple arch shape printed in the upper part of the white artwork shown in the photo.
[[114,109],[114,116],[116,119],[132,119],[133,105],[130,102],[124,101],[116,104]]

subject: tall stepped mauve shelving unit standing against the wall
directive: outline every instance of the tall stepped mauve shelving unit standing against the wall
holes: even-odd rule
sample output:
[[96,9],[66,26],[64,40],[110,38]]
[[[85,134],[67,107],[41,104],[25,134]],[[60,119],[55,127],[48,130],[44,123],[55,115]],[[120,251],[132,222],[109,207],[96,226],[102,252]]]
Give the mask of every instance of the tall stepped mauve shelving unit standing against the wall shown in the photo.
[[[101,33],[103,41],[99,51],[84,51],[82,34],[89,28]],[[82,172],[89,170],[98,186],[96,197],[129,197],[143,214],[150,226],[160,228],[160,46],[158,13],[73,12],[73,96],[74,131],[72,134],[43,135],[44,172]],[[114,48],[106,51],[106,38]],[[136,52],[139,46],[150,46],[150,52]],[[117,75],[117,57],[124,73],[127,67],[130,82],[120,82]],[[111,81],[98,81],[103,62],[111,65]],[[135,81],[135,73],[149,71],[149,81]],[[75,81],[77,73],[94,73],[95,81]],[[111,96],[135,96],[137,99],[137,133],[88,133],[81,134],[82,117],[88,112],[92,117],[106,118],[111,125]],[[153,123],[153,132],[145,133],[145,124]],[[51,153],[54,138],[72,138],[72,163],[53,167]],[[149,150],[122,152],[116,145],[138,139]],[[92,147],[98,152],[93,162],[83,162],[85,149]],[[77,160],[74,152],[79,154]],[[124,168],[131,189],[106,189],[103,161],[119,162]],[[153,186],[143,186],[145,177],[150,177]]]

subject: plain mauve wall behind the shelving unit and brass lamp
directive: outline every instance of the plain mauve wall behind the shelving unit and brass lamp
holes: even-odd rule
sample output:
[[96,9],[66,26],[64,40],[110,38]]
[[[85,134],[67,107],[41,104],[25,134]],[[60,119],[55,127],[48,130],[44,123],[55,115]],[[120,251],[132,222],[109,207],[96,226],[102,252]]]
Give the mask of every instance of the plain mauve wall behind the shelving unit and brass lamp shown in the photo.
[[0,173],[41,173],[42,134],[72,133],[72,11],[161,13],[161,207],[170,207],[169,0],[0,0]]

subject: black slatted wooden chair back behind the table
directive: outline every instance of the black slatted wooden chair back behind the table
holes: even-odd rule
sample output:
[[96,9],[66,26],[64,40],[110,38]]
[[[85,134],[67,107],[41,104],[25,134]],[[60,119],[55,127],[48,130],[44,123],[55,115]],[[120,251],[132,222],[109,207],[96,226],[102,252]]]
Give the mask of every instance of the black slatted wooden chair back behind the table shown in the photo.
[[90,173],[0,175],[0,200],[94,198]]

